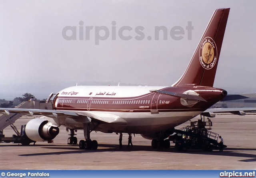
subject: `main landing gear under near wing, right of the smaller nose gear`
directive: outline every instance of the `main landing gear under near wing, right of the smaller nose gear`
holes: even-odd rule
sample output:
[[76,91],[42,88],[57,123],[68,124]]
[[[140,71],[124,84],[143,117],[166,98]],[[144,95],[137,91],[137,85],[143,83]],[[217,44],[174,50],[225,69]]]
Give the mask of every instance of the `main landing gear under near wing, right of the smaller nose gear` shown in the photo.
[[[98,125],[97,125],[98,126]],[[96,127],[94,127],[95,129]],[[93,131],[93,129],[92,129]],[[96,140],[91,140],[90,139],[90,123],[85,123],[84,124],[84,140],[80,140],[79,142],[79,148],[80,149],[85,149],[85,150],[96,150],[98,148],[98,142]]]

